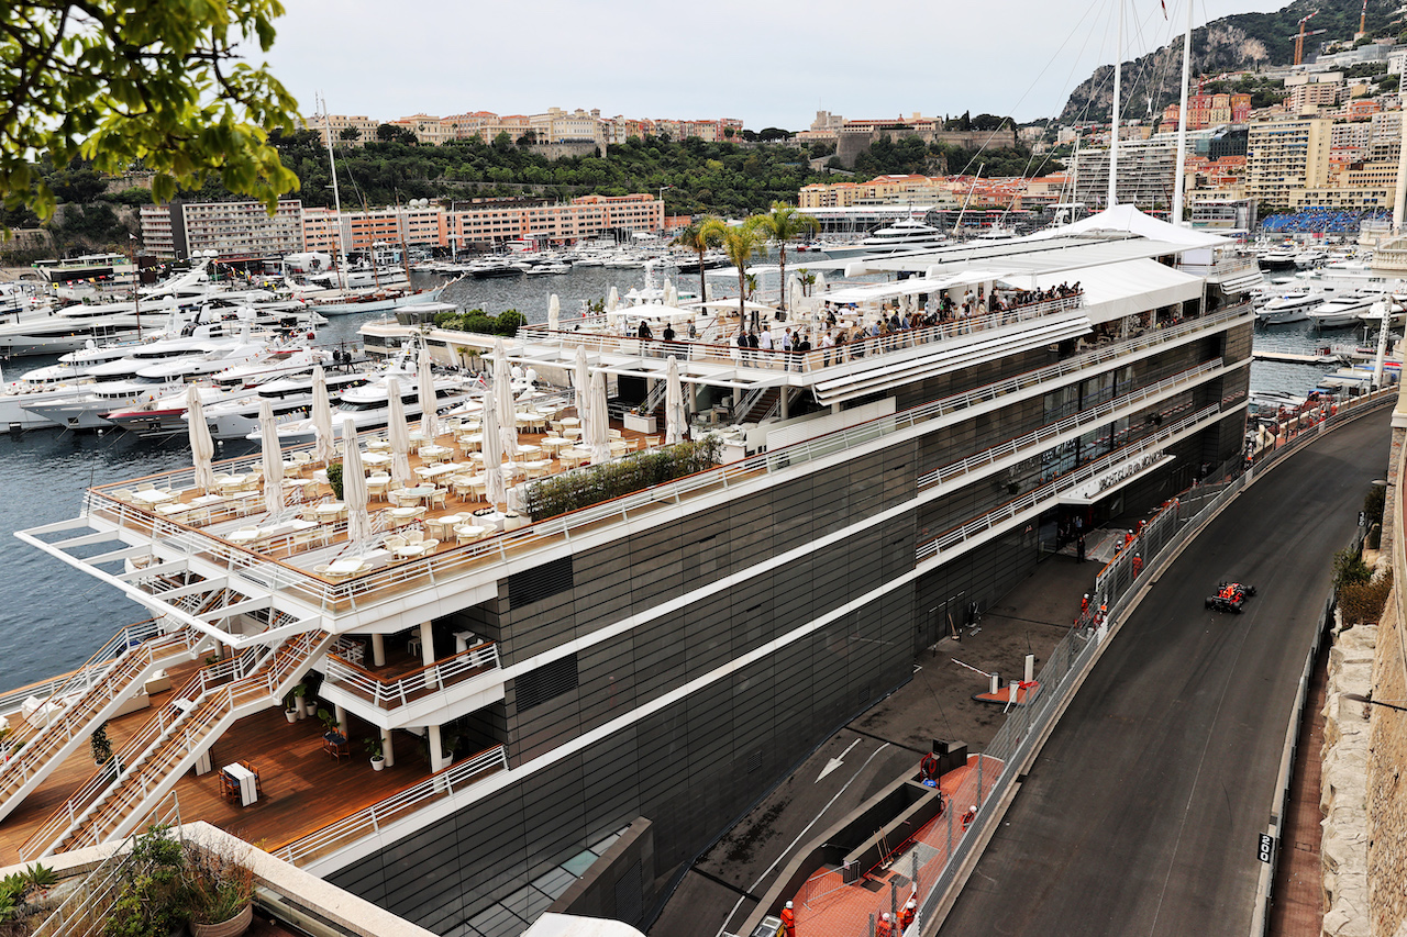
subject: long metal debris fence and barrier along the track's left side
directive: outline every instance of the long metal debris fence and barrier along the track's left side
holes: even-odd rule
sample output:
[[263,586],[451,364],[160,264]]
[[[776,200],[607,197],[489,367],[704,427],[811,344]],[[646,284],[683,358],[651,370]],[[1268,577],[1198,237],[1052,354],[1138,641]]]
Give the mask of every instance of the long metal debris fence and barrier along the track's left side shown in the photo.
[[[1006,723],[986,746],[978,764],[989,771],[969,772],[951,796],[947,823],[936,823],[943,839],[943,850],[917,867],[913,893],[923,895],[915,922],[922,933],[926,922],[951,903],[955,889],[965,879],[968,860],[979,851],[983,827],[996,822],[1006,809],[1007,795],[1016,777],[1036,757],[1050,730],[1074,696],[1085,674],[1099,657],[1099,649],[1117,627],[1121,616],[1134,605],[1138,589],[1158,568],[1172,560],[1178,547],[1190,540],[1228,501],[1256,474],[1285,459],[1289,453],[1332,429],[1358,419],[1397,398],[1390,387],[1373,394],[1351,398],[1342,405],[1324,405],[1318,412],[1294,415],[1282,421],[1276,443],[1247,459],[1227,461],[1204,473],[1203,481],[1164,505],[1162,511],[1137,532],[1133,542],[1096,577],[1096,588],[1089,611],[1075,622],[1055,644],[1037,677],[1038,687],[1026,698],[1026,705],[1012,708]],[[1106,611],[1099,613],[1100,606]],[[975,808],[975,809],[974,809]],[[957,834],[948,839],[953,815],[972,809],[968,823],[958,822]],[[931,836],[930,836],[931,839]],[[920,840],[922,841],[922,840]],[[889,910],[889,899],[877,902],[878,913]]]

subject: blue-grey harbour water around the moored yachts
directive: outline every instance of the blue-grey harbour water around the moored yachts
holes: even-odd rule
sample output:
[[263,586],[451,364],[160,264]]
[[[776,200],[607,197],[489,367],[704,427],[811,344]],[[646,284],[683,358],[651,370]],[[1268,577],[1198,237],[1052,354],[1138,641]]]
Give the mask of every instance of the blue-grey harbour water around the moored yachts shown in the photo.
[[[798,264],[791,259],[791,266]],[[674,283],[698,291],[698,276],[671,273]],[[501,312],[515,308],[529,322],[547,318],[549,295],[561,300],[563,315],[574,315],[584,300],[605,298],[612,286],[625,294],[642,283],[635,270],[587,269],[570,276],[509,280],[464,280],[445,293],[445,300],[464,308]],[[711,277],[709,288],[729,295],[725,277]],[[736,284],[732,294],[736,295]],[[356,340],[367,317],[338,317],[322,331],[328,342]],[[1348,342],[1351,331],[1331,335]],[[1307,352],[1321,340],[1303,325],[1256,329],[1258,348]],[[18,374],[52,359],[11,362]],[[1251,366],[1252,390],[1307,393],[1331,369],[1306,364],[1256,362]],[[253,443],[225,445],[218,456],[238,456]],[[0,689],[10,689],[72,670],[87,660],[117,629],[148,618],[145,609],[117,589],[35,550],[13,533],[41,523],[76,516],[83,491],[93,484],[190,464],[184,436],[144,439],[132,433],[72,433],[34,431],[23,436],[0,435]]]

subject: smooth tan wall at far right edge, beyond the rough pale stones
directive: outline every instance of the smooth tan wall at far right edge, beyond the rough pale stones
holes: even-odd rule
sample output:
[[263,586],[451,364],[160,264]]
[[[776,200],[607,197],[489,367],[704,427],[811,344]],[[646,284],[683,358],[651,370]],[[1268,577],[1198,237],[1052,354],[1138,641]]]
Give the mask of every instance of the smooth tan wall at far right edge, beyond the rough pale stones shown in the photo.
[[[1397,433],[1394,433],[1396,436]],[[1401,575],[1401,571],[1399,571]],[[1403,705],[1403,620],[1389,601],[1373,658],[1373,699]],[[1362,703],[1358,703],[1362,705]],[[1407,713],[1372,706],[1368,763],[1368,902],[1373,937],[1393,937],[1407,922]]]

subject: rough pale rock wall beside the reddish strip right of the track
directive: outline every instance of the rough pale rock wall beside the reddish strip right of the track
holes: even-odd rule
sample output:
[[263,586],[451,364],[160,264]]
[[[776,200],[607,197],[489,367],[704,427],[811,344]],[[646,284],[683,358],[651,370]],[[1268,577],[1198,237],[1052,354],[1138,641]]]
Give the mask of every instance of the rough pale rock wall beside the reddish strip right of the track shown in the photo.
[[1325,937],[1369,937],[1368,905],[1368,732],[1365,703],[1344,694],[1366,695],[1373,681],[1377,629],[1359,625],[1339,632],[1328,653],[1324,702],[1324,774],[1320,812],[1324,841]]

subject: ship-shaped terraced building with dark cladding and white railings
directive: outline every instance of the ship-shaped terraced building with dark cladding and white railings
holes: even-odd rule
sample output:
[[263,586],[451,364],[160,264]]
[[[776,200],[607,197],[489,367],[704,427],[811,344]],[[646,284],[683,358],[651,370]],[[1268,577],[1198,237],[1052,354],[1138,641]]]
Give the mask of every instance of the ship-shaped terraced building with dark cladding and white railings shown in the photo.
[[[615,914],[653,920],[720,830],[1069,519],[1158,504],[1241,452],[1259,273],[1223,243],[1114,208],[857,259],[902,279],[833,284],[774,322],[812,332],[809,352],[737,355],[716,307],[668,343],[623,336],[629,311],[526,326],[515,366],[566,385],[584,353],[615,388],[612,453],[660,446],[671,367],[694,435],[725,438],[719,464],[556,516],[484,501],[487,407],[411,463],[464,480],[447,504],[374,509],[370,530],[315,474],[260,492],[257,456],[204,485],[89,490],[20,536],[151,620],[0,698],[0,862],[122,837],[174,793],[183,819],[440,934],[521,933],[598,862]],[[858,331],[964,304],[819,340],[830,312]],[[443,360],[476,340],[425,338]],[[556,480],[581,415],[519,409],[522,464]],[[308,450],[286,450],[291,471]],[[314,698],[326,725],[300,720]],[[104,725],[117,756],[94,770]]]

